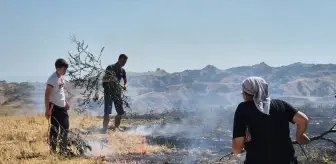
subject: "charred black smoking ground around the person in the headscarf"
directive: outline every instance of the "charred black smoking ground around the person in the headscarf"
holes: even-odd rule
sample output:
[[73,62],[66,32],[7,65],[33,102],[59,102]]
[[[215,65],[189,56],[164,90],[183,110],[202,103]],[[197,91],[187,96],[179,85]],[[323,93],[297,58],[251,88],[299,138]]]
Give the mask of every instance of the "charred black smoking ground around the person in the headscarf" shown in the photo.
[[[329,129],[335,123],[335,109],[311,107],[303,110],[310,118],[308,135],[314,136]],[[245,155],[240,157],[229,156],[218,160],[231,152],[231,129],[234,110],[212,110],[207,112],[175,112],[167,114],[132,115],[126,117],[130,128],[125,133],[143,135],[150,145],[165,145],[169,152],[156,154],[127,154],[111,157],[110,162],[137,161],[138,163],[242,163]],[[134,121],[144,120],[144,121]],[[295,125],[291,126],[292,139],[295,139]],[[94,128],[92,128],[94,129]],[[335,139],[335,135],[330,135]],[[332,146],[325,141],[314,141],[303,146],[309,159],[323,160],[321,152],[326,147]],[[302,150],[295,145],[296,155],[301,163],[309,163]],[[332,153],[331,153],[332,154]],[[317,156],[317,157],[316,157]],[[335,156],[335,155],[334,155]],[[314,162],[312,162],[314,163]],[[323,163],[323,162],[322,162]]]

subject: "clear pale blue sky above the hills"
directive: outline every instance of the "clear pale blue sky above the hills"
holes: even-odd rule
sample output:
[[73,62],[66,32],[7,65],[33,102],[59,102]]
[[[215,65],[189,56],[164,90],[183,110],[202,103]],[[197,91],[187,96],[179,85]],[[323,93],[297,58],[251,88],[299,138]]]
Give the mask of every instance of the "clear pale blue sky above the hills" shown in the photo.
[[0,79],[46,81],[56,58],[126,53],[127,71],[336,63],[335,0],[2,0]]

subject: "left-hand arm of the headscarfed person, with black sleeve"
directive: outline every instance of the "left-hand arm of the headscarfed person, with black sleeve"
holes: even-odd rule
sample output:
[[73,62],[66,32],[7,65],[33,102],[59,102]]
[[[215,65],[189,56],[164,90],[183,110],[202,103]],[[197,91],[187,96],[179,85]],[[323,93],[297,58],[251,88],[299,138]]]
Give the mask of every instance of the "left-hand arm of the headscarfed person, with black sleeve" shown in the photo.
[[243,108],[238,105],[233,122],[233,136],[232,136],[232,153],[239,154],[244,151],[245,143],[245,128],[246,123],[243,117]]

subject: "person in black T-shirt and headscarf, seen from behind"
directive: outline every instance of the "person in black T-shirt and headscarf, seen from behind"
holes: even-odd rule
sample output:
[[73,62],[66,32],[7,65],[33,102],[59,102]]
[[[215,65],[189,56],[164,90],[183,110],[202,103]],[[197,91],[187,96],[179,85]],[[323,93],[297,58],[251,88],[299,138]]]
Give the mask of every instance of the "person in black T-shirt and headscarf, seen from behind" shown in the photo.
[[242,88],[244,102],[234,115],[232,153],[246,151],[244,164],[297,163],[289,122],[297,125],[297,142],[307,144],[307,116],[283,100],[271,100],[268,84],[260,77],[247,78]]

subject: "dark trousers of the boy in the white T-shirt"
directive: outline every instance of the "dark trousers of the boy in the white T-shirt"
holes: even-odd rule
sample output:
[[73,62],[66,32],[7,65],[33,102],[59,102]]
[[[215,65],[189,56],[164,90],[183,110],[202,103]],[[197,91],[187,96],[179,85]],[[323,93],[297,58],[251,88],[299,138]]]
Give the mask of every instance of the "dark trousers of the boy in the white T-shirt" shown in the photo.
[[57,136],[60,136],[60,150],[64,151],[68,145],[68,130],[69,130],[69,115],[65,107],[59,107],[50,104],[51,110],[51,125],[49,133],[49,144],[53,151],[56,151],[58,144]]

